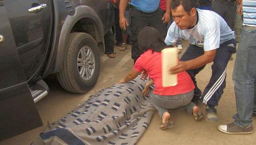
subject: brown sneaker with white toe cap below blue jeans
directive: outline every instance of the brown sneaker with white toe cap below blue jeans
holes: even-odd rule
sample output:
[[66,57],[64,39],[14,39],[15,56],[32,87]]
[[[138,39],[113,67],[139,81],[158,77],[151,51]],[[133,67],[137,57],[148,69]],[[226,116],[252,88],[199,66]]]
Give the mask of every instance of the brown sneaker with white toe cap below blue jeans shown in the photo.
[[234,123],[219,125],[218,130],[226,134],[250,134],[253,131],[252,124],[248,127],[238,127]]

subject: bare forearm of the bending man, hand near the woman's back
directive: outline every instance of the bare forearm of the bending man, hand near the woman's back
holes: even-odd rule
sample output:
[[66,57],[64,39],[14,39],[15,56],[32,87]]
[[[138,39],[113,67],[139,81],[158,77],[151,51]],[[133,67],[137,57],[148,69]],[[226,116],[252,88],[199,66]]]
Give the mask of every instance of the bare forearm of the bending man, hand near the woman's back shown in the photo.
[[207,63],[213,62],[215,58],[215,54],[216,54],[216,49],[211,51],[204,51],[203,55],[188,61],[179,61],[178,65],[169,69],[169,73],[177,74],[185,70],[199,68],[203,65],[206,65]]

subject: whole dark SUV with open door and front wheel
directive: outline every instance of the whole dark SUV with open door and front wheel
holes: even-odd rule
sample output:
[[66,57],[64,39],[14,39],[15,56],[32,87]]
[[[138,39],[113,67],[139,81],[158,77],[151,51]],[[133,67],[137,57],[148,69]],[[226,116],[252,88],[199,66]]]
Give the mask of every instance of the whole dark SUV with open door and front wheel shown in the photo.
[[0,0],[0,140],[42,125],[49,74],[70,92],[94,87],[112,24],[110,0]]

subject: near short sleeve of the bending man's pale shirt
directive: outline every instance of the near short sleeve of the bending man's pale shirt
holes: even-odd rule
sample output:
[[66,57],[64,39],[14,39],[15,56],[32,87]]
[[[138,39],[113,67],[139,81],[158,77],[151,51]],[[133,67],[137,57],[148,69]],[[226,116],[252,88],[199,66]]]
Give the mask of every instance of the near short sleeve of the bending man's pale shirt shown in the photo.
[[214,18],[211,25],[205,29],[203,49],[210,51],[217,49],[220,45],[220,23],[217,18]]

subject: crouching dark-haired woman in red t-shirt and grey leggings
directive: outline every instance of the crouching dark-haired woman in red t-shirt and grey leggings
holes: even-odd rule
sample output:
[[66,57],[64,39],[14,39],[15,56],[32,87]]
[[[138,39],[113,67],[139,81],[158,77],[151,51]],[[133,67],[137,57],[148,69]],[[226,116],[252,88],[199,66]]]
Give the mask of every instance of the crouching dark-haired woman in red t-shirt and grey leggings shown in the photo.
[[177,74],[177,85],[173,87],[162,87],[162,49],[166,48],[161,35],[153,27],[145,27],[138,35],[139,49],[144,53],[140,55],[131,72],[127,74],[119,83],[126,83],[145,70],[151,80],[145,86],[143,95],[147,95],[148,88],[154,84],[154,96],[151,97],[152,104],[158,110],[162,118],[160,129],[164,130],[173,127],[173,122],[169,121],[168,109],[175,109],[184,106],[185,110],[194,116],[196,121],[203,119],[203,114],[199,107],[191,102],[194,94],[194,84],[187,72]]

